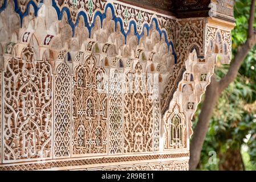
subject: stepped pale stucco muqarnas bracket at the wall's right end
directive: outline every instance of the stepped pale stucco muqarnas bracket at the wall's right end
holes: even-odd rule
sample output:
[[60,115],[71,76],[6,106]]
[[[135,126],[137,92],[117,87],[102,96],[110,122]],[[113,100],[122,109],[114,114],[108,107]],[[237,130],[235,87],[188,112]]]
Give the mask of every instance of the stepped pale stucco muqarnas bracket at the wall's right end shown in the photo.
[[[214,22],[214,23],[213,23]],[[188,49],[188,59],[185,61],[185,72],[182,80],[178,83],[176,92],[173,94],[173,99],[169,102],[169,110],[164,114],[164,134],[165,134],[165,150],[173,150],[172,142],[180,142],[181,148],[189,142],[189,137],[193,134],[192,117],[196,111],[198,103],[201,101],[202,94],[205,93],[206,86],[210,83],[210,77],[214,73],[214,67],[219,62],[220,64],[229,64],[231,59],[231,30],[229,24],[222,27],[216,26],[212,19],[206,19],[204,27],[204,43],[201,51],[197,46]],[[171,140],[169,137],[169,127],[173,122],[182,123],[182,115],[185,115],[186,131],[182,131],[180,126],[174,127],[180,132],[182,138],[188,139],[184,141]],[[177,122],[179,121],[179,122]],[[189,137],[186,137],[185,135]],[[173,136],[175,138],[177,136]],[[174,146],[177,147],[177,146]]]

